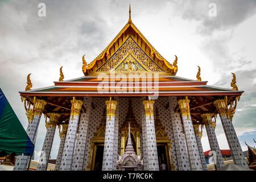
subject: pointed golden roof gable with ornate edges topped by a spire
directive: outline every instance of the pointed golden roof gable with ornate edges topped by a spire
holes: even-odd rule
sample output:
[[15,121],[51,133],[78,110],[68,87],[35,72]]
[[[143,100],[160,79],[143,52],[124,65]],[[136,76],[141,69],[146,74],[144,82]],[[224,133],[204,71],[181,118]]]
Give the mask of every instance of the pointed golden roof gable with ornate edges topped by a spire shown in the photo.
[[[133,44],[131,45],[131,43]],[[177,57],[173,64],[168,63],[134,25],[129,12],[129,21],[112,42],[90,64],[84,64],[84,75],[93,75],[99,72],[109,73],[112,70],[111,62],[113,62],[113,57],[115,58],[115,63],[119,63],[124,56],[127,56],[129,51],[131,51],[130,54],[136,55],[138,62],[144,61],[144,65],[156,65],[158,69],[161,69],[161,71],[155,71],[154,68],[151,68],[150,72],[152,73],[169,73],[171,76],[175,76],[177,73]],[[109,62],[107,67],[99,71],[99,68],[106,62]]]

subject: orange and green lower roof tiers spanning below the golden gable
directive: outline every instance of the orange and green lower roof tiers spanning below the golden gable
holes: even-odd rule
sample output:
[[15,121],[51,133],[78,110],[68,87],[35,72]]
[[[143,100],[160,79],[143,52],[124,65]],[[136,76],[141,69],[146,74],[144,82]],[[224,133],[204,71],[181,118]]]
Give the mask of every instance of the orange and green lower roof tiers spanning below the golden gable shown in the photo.
[[196,81],[177,76],[154,77],[151,75],[122,78],[85,76],[73,80],[55,81],[54,84],[47,88],[20,92],[20,95],[133,97],[152,96],[156,93],[159,96],[240,96],[243,93],[243,91],[209,86],[207,81]]

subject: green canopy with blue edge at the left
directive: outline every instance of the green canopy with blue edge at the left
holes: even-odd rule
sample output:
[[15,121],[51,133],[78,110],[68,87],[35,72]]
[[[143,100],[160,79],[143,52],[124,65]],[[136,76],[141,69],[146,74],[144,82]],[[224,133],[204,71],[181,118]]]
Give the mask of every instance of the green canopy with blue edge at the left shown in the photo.
[[34,144],[0,88],[0,156],[33,155]]

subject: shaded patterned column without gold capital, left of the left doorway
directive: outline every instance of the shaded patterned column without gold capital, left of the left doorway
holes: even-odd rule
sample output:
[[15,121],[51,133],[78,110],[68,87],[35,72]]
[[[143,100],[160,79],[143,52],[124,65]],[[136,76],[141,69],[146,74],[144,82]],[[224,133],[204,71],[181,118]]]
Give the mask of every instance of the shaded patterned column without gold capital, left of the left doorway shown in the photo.
[[73,171],[82,171],[84,164],[84,153],[85,153],[85,143],[86,143],[86,135],[88,122],[90,118],[90,113],[92,110],[92,97],[84,98],[84,107],[86,109],[86,113],[81,114],[80,123],[77,131],[77,139],[76,139],[76,148],[73,156],[72,170]]

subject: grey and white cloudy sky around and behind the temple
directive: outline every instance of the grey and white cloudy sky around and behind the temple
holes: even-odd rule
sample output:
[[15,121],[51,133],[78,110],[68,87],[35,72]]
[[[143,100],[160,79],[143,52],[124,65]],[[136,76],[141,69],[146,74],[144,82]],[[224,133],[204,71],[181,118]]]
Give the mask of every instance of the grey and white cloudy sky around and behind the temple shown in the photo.
[[[39,16],[39,3],[46,16]],[[210,4],[214,3],[214,5]],[[256,1],[0,1],[0,87],[22,122],[28,122],[19,91],[31,74],[32,89],[53,85],[63,66],[64,80],[81,77],[82,55],[90,63],[127,23],[133,23],[170,63],[178,57],[177,76],[196,79],[197,65],[208,85],[230,88],[232,72],[244,90],[233,125],[243,151],[256,139]],[[214,16],[216,6],[216,16]],[[228,149],[220,119],[217,139]],[[35,150],[42,150],[44,118]],[[51,158],[59,148],[56,131]],[[204,151],[210,149],[207,133]],[[39,155],[35,156],[39,159]]]

